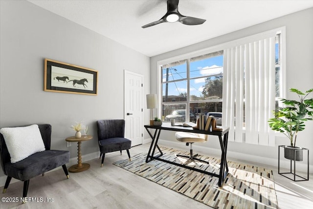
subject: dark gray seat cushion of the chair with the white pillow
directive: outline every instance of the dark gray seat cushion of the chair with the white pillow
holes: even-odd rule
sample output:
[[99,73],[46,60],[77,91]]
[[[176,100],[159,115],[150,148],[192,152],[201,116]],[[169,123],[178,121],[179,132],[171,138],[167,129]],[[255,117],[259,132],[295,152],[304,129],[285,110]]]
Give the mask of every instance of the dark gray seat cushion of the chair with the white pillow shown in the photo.
[[17,163],[7,163],[4,168],[8,176],[26,181],[68,162],[69,151],[45,150],[32,154]]

